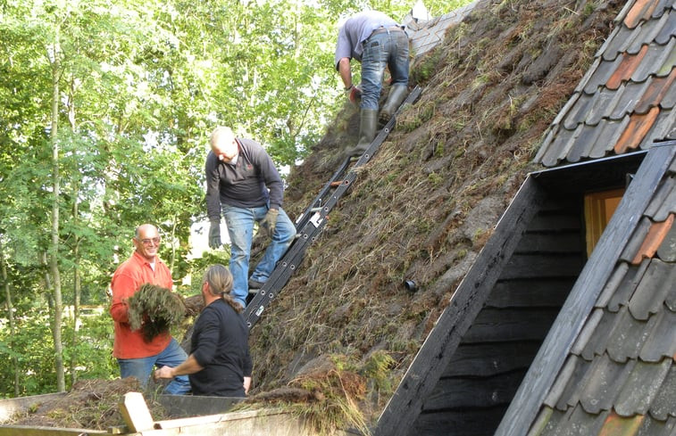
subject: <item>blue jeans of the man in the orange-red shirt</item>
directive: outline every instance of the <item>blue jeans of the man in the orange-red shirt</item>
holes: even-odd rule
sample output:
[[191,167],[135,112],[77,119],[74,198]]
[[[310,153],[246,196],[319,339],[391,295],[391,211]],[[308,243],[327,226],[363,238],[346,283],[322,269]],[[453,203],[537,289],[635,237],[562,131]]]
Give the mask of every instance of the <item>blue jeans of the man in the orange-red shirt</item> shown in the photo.
[[[171,338],[171,342],[160,354],[150,356],[149,358],[118,358],[120,365],[121,378],[136,377],[141,385],[146,388],[150,373],[154,366],[179,366],[188,355],[180,348],[179,342]],[[190,391],[190,381],[188,375],[177,375],[164,388],[164,393],[171,395],[183,395]]]

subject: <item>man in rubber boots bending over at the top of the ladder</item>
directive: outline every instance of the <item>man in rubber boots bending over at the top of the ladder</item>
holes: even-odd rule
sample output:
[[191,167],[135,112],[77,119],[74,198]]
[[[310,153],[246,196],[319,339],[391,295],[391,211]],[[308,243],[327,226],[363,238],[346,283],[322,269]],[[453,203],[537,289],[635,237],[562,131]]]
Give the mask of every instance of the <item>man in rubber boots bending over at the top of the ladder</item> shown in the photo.
[[[362,63],[360,86],[352,82],[353,58]],[[356,13],[338,29],[334,62],[350,101],[355,103],[359,95],[362,98],[359,141],[347,151],[350,156],[361,156],[378,129],[378,102],[386,67],[392,80],[388,100],[380,110],[381,125],[388,122],[408,94],[408,36],[403,26],[382,12]]]

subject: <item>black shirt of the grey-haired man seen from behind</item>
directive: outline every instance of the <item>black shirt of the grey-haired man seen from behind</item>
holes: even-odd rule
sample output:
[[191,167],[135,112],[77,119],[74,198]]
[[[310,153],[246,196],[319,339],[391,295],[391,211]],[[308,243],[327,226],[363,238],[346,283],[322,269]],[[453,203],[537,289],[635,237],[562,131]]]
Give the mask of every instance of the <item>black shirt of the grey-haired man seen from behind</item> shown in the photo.
[[230,304],[215,300],[197,318],[190,354],[204,369],[190,374],[193,395],[244,397],[244,377],[251,376],[249,331]]

